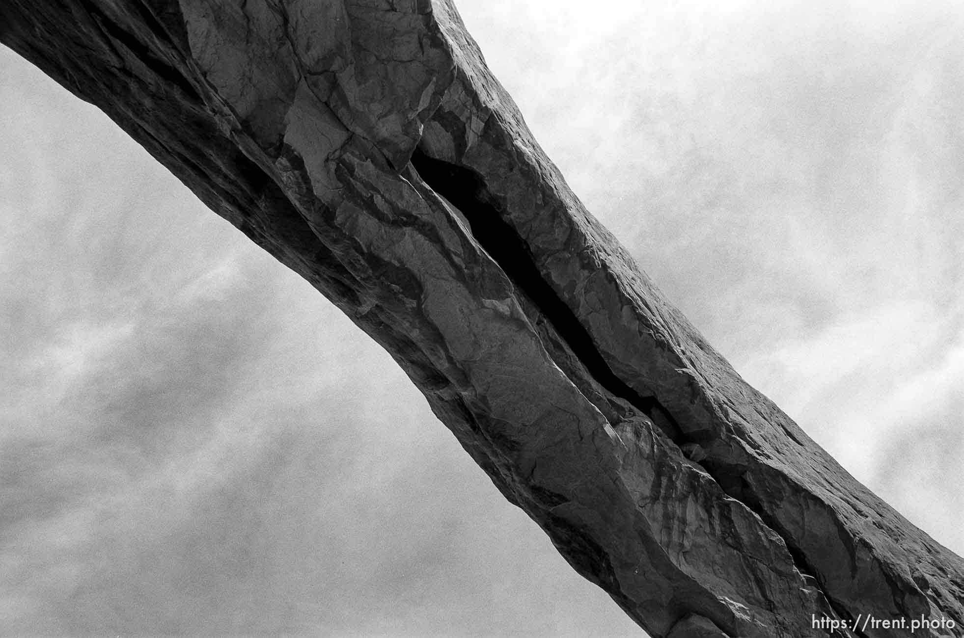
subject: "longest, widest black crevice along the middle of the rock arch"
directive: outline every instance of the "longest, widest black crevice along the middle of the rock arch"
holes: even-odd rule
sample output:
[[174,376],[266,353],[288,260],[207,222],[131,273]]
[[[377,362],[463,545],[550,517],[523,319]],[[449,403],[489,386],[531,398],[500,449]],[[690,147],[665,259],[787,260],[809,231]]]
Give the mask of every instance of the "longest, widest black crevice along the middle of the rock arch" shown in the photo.
[[685,442],[679,424],[655,396],[640,396],[609,368],[576,313],[539,272],[522,237],[503,219],[502,206],[486,188],[482,177],[469,169],[429,157],[420,148],[412,154],[412,166],[433,191],[465,215],[475,240],[513,284],[539,307],[589,374],[610,393],[653,419],[674,442]]

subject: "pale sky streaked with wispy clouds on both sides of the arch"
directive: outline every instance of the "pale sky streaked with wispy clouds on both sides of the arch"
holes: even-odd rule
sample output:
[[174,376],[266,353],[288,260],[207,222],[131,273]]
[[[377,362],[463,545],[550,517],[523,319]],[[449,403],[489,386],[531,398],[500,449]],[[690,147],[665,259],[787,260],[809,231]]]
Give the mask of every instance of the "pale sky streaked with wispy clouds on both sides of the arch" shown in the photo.
[[[459,7],[670,299],[964,553],[964,8],[762,4]],[[640,635],[307,283],[7,49],[0,97],[0,635]]]

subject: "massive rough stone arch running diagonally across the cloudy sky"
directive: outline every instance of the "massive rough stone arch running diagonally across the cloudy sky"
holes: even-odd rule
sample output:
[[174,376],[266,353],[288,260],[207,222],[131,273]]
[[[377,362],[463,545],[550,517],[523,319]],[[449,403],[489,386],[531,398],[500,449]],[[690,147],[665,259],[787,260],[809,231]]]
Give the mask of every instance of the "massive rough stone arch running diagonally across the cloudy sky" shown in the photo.
[[[384,346],[653,636],[964,635],[964,561],[663,299],[450,0],[4,0],[0,40]],[[868,615],[907,625],[813,625]]]

